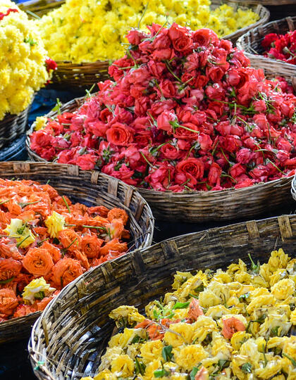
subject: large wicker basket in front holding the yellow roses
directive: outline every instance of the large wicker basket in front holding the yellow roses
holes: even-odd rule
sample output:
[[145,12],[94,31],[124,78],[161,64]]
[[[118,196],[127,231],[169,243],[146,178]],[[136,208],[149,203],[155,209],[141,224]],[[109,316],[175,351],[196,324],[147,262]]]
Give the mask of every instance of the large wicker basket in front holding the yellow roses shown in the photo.
[[134,251],[78,277],[43,312],[29,352],[38,379],[94,376],[114,329],[108,315],[120,305],[144,305],[170,289],[177,270],[225,268],[248,253],[260,262],[275,248],[295,257],[296,216],[233,224],[179,236]]

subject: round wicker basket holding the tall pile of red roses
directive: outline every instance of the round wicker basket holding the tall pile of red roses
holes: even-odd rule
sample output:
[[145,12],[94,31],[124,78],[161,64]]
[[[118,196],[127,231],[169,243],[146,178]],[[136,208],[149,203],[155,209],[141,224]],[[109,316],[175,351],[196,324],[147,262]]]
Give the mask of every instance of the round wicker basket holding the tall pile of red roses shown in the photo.
[[[85,98],[74,99],[61,107],[61,112],[73,112],[83,103]],[[51,111],[47,118],[55,118],[56,111]],[[27,134],[26,147],[30,160],[46,163],[30,148],[30,134]],[[184,222],[209,222],[220,220],[236,220],[252,218],[271,210],[288,205],[292,201],[290,194],[292,177],[243,189],[226,189],[222,191],[155,191],[138,188],[137,191],[146,199],[157,220]]]

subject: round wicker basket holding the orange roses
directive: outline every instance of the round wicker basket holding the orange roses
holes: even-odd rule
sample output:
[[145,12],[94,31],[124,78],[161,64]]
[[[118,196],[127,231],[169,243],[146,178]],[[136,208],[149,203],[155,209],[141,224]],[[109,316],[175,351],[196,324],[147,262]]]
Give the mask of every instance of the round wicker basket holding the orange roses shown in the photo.
[[[1,178],[32,179],[51,186],[71,201],[85,205],[105,205],[126,210],[130,217],[129,248],[144,248],[152,243],[154,219],[146,201],[127,184],[99,172],[79,170],[73,165],[51,163],[0,163]],[[0,344],[27,338],[40,312],[0,323]]]

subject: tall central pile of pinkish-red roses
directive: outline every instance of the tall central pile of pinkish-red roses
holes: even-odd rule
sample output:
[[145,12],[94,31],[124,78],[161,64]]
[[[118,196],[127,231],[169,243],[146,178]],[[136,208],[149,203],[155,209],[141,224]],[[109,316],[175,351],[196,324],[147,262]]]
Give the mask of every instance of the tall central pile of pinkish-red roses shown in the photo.
[[31,135],[46,160],[159,191],[241,188],[296,169],[296,97],[231,42],[173,24],[131,30],[113,81]]

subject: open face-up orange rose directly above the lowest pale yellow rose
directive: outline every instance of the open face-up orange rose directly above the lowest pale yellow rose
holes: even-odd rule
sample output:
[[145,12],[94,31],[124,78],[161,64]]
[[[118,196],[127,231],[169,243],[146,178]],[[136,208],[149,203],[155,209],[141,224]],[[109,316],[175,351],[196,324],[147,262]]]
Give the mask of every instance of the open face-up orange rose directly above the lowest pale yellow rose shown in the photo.
[[53,266],[51,254],[44,248],[30,248],[23,259],[23,267],[34,276],[46,276]]

